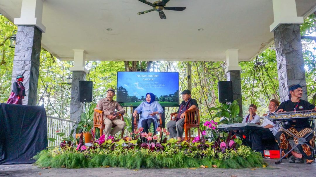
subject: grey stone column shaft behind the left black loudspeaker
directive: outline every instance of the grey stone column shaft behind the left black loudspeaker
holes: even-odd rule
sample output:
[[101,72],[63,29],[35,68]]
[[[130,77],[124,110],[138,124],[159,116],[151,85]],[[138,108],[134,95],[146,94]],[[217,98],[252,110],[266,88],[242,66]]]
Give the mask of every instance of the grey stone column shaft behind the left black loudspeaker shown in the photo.
[[83,103],[78,101],[79,81],[84,81],[86,77],[85,71],[72,71],[71,83],[71,101],[70,101],[70,120],[80,122],[83,113]]

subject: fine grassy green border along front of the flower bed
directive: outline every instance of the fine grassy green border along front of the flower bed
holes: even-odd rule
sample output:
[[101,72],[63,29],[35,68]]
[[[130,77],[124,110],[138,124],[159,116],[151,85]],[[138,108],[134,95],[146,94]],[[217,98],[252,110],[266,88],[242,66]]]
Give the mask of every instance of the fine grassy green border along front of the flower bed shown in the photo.
[[253,168],[261,167],[264,162],[261,154],[252,152],[249,147],[241,146],[237,151],[226,151],[221,157],[213,150],[204,151],[205,156],[194,157],[179,149],[169,152],[156,152],[149,149],[99,151],[89,149],[85,152],[74,149],[44,150],[37,154],[36,165],[52,168],[97,168],[97,167],[123,167],[123,168],[189,168],[201,165],[216,165],[219,168]]

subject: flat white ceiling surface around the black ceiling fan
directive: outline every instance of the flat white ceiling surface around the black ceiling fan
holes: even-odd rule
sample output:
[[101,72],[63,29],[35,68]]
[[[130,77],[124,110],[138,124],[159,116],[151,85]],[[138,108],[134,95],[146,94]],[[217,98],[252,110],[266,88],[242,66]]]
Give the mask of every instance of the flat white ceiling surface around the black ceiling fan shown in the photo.
[[[154,0],[148,0],[154,2]],[[20,17],[22,0],[0,0],[0,13]],[[307,16],[316,0],[296,0],[298,16]],[[273,42],[272,0],[170,0],[164,10],[138,0],[45,0],[42,46],[61,60],[72,49],[85,49],[87,60],[226,60],[227,49],[240,49],[251,60]],[[112,31],[107,31],[112,28]],[[197,31],[203,28],[204,31]]]

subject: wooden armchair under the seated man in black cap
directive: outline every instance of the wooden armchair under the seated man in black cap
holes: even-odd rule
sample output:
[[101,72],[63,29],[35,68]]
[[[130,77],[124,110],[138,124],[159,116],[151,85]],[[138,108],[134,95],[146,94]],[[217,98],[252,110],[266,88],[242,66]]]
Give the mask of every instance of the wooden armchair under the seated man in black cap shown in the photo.
[[[172,116],[177,114],[178,112],[173,112],[170,114],[171,120]],[[184,133],[185,133],[185,140],[191,139],[191,132],[190,128],[197,128],[197,134],[200,136],[200,111],[199,108],[194,108],[185,111],[184,117]]]

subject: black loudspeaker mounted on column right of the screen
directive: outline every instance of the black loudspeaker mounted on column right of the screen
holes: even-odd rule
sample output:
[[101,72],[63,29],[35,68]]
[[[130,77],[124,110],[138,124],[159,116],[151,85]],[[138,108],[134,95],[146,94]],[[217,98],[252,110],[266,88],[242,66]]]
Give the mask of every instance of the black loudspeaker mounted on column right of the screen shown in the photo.
[[232,81],[219,81],[218,82],[218,101],[233,102],[233,82]]

